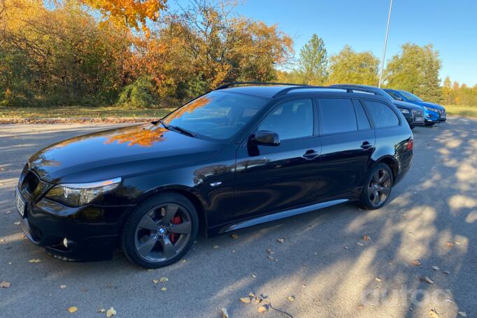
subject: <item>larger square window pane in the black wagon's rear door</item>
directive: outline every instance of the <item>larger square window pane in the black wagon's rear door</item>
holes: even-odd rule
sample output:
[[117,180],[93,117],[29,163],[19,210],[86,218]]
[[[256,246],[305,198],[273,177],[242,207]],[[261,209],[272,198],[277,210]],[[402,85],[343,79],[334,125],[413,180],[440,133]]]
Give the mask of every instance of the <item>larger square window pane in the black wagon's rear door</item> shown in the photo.
[[320,99],[321,132],[357,130],[355,108],[350,99]]

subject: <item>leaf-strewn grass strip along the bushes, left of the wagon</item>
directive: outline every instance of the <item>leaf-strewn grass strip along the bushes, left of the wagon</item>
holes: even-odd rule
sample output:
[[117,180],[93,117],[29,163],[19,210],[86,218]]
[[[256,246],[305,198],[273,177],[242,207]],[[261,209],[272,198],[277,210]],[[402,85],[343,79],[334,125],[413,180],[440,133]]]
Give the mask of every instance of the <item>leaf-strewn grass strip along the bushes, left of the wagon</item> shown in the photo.
[[118,106],[0,107],[0,118],[162,118],[174,108],[128,109]]

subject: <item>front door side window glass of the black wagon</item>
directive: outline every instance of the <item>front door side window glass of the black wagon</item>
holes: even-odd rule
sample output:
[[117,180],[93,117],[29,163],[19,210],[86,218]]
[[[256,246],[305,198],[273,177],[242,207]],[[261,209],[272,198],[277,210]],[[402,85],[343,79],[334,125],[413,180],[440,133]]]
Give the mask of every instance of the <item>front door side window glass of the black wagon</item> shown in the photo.
[[278,133],[280,140],[313,135],[313,104],[311,99],[297,99],[280,104],[271,111],[259,130]]

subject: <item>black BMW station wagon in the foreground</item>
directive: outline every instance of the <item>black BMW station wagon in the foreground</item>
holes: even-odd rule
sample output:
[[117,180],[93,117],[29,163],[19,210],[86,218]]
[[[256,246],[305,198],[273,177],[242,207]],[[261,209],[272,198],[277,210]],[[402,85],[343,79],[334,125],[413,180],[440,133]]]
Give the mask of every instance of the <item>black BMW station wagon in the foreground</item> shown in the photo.
[[119,246],[158,268],[199,230],[348,201],[380,208],[412,157],[411,129],[380,96],[226,85],[158,122],[46,147],[24,167],[15,201],[25,235],[59,259],[110,259]]

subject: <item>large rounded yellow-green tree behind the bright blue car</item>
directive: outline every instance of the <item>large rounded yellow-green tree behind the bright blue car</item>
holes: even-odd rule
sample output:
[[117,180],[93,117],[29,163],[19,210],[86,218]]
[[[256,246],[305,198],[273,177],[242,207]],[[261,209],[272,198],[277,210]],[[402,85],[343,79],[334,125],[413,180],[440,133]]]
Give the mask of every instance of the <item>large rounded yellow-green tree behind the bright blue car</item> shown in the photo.
[[387,63],[387,86],[412,92],[425,101],[442,102],[439,52],[434,50],[432,44],[419,46],[406,43],[401,45],[401,49]]

